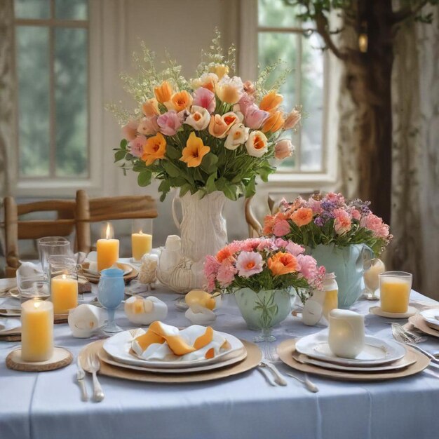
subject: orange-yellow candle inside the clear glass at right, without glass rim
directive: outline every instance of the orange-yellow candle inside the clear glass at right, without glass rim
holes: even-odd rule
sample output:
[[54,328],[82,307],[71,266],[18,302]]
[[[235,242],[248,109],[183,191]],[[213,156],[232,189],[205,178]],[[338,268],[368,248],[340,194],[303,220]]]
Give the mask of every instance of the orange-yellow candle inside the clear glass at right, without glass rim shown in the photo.
[[411,283],[398,278],[381,278],[379,292],[381,309],[386,313],[406,313]]

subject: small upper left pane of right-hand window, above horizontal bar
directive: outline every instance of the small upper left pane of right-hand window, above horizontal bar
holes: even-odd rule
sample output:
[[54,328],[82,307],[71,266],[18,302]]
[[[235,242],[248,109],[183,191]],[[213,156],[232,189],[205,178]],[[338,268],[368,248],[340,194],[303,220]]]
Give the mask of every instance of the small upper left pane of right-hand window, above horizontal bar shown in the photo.
[[297,6],[285,5],[284,0],[258,0],[257,8],[259,26],[297,26]]

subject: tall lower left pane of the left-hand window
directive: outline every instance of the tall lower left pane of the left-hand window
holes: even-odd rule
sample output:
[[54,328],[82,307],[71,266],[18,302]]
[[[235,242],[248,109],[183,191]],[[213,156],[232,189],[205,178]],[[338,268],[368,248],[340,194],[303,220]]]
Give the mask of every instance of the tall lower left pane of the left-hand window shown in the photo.
[[49,174],[48,28],[15,28],[20,175]]

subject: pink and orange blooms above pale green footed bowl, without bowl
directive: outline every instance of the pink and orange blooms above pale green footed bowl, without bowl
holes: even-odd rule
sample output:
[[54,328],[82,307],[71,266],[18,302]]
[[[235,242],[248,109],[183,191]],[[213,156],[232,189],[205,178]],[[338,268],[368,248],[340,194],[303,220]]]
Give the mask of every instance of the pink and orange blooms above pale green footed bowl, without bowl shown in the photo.
[[208,291],[240,288],[279,290],[321,288],[325,268],[303,255],[302,245],[281,238],[234,241],[205,259]]

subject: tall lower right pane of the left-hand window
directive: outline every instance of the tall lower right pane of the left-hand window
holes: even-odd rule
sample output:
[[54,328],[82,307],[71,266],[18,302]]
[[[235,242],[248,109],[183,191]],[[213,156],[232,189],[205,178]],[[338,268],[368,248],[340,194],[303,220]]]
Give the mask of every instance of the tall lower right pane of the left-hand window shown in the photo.
[[55,29],[56,175],[88,175],[88,35]]

